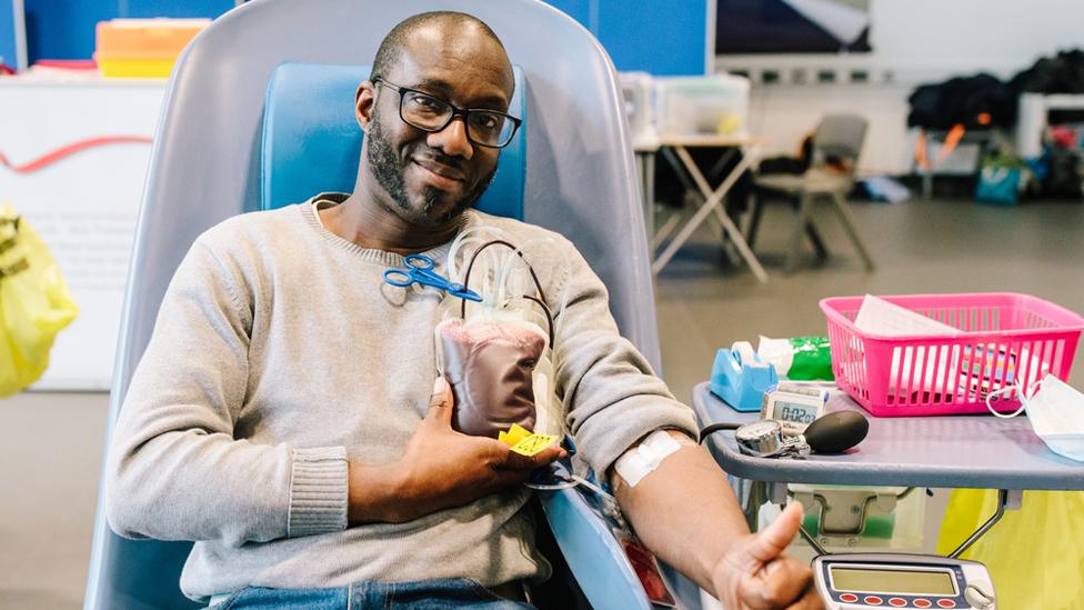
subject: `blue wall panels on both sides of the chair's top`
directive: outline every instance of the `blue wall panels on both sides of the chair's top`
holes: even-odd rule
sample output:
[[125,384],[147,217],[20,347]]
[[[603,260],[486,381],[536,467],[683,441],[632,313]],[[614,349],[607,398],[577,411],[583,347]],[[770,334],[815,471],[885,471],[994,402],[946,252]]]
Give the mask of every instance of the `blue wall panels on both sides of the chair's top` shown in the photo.
[[[233,0],[24,0],[30,61],[87,59],[94,24],[113,18],[218,17]],[[548,0],[583,24],[618,70],[702,74],[707,3],[715,0]]]

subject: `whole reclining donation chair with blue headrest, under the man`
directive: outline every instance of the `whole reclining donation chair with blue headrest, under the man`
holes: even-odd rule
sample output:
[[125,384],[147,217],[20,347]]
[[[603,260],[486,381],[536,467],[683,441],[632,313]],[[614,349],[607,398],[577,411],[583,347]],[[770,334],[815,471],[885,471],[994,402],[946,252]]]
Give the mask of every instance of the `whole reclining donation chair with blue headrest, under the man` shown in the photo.
[[[515,66],[515,141],[478,207],[571,239],[610,290],[622,333],[659,370],[648,246],[631,143],[612,63],[568,16],[534,0],[258,0],[214,21],[170,80],[137,227],[109,430],[165,288],[195,237],[242,212],[350,191],[362,132],[353,92],[383,36],[430,10],[485,21]],[[546,32],[545,37],[536,36]],[[553,44],[560,40],[560,44]],[[540,500],[553,537],[595,608],[651,608],[605,524],[580,492]],[[187,542],[127,540],[94,523],[84,607],[194,608],[179,589]],[[668,574],[686,606],[695,588]]]

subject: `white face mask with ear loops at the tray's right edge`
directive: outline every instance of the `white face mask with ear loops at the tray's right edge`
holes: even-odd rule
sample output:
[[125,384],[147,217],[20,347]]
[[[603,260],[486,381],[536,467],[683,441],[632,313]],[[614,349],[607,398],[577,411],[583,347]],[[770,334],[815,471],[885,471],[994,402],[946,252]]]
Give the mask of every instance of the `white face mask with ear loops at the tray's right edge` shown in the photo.
[[[1040,381],[1037,391],[1034,388],[1035,384],[1028,388],[1031,396],[1025,396],[1020,386],[997,390],[986,397],[986,407],[1000,418],[1011,418],[1026,410],[1035,434],[1043,439],[1051,451],[1084,462],[1084,393],[1052,374]],[[994,411],[990,401],[996,396],[1012,392],[1020,398],[1020,409],[1010,414]]]

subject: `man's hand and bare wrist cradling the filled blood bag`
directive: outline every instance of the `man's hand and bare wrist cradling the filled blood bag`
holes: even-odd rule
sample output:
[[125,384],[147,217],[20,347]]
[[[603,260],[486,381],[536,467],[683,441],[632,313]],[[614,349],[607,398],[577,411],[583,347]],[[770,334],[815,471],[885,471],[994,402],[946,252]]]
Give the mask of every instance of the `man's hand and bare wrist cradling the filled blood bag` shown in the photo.
[[350,464],[350,522],[398,523],[463,506],[528,480],[533,470],[564,454],[550,447],[529,458],[495,439],[456,432],[452,389],[438,378],[425,419],[398,462]]

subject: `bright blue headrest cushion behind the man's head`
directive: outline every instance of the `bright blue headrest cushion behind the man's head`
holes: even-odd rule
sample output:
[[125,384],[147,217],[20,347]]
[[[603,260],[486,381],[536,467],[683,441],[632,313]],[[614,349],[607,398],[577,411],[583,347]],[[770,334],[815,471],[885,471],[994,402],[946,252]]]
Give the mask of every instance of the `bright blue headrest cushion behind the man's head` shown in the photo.
[[[320,192],[351,192],[364,133],[354,119],[354,92],[369,66],[283,63],[268,84],[263,114],[261,208],[304,201]],[[526,120],[523,74],[512,68],[515,93],[509,113]],[[496,176],[475,208],[523,218],[526,128],[501,149]]]

